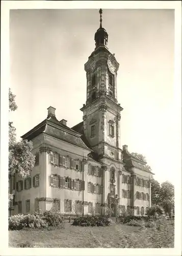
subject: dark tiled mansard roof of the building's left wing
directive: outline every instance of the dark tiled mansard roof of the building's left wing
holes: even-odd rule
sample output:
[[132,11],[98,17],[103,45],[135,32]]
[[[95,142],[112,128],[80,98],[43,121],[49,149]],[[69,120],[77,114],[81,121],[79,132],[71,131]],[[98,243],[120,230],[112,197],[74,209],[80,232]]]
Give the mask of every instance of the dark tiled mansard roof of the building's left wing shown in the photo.
[[46,118],[28,133],[21,136],[21,138],[32,140],[41,133],[48,134],[76,146],[86,148],[87,150],[90,149],[82,140],[82,134],[77,133],[76,131],[70,129],[68,126],[60,123],[55,116]]

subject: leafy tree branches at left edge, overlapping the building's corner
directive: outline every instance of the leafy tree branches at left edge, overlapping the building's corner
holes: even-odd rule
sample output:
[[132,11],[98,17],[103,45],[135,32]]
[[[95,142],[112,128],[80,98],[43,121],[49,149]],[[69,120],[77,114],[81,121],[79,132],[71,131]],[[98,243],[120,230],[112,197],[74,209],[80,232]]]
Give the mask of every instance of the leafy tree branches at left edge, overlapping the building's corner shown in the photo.
[[[9,89],[9,111],[15,111],[17,105],[15,95]],[[9,121],[9,175],[18,174],[22,178],[30,176],[35,164],[35,156],[32,154],[33,143],[28,140],[16,141],[16,129]],[[12,195],[9,195],[9,200]]]

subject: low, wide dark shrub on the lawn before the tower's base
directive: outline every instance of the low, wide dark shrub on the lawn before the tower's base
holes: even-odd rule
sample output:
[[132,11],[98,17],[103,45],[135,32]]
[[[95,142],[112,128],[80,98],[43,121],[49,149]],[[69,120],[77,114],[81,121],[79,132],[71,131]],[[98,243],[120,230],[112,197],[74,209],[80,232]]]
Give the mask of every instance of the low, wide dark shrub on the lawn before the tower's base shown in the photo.
[[73,220],[73,226],[109,226],[111,220],[97,216],[83,216]]

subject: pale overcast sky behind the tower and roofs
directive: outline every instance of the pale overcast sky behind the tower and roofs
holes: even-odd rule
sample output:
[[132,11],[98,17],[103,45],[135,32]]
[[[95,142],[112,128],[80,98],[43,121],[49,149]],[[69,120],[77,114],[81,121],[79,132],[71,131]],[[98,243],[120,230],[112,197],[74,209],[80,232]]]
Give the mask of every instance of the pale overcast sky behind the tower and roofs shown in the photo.
[[[174,11],[103,9],[102,19],[120,63],[121,145],[146,156],[159,182],[174,182]],[[84,64],[98,27],[98,9],[10,11],[17,139],[46,118],[50,105],[69,127],[82,121]]]

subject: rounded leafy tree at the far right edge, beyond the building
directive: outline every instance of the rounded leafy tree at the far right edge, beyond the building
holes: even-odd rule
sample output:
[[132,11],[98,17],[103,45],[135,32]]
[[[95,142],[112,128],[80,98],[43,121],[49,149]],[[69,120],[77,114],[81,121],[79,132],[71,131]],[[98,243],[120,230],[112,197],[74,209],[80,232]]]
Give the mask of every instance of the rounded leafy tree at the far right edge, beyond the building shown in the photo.
[[174,185],[168,181],[161,184],[161,205],[166,213],[171,217],[171,210],[174,209]]

